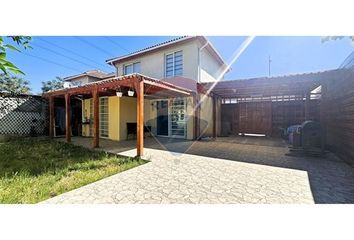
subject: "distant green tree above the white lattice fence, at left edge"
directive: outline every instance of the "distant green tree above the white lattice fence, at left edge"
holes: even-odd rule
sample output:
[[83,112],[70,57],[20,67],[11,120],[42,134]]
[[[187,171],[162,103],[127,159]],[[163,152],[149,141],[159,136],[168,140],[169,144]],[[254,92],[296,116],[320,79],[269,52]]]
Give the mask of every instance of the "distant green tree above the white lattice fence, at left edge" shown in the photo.
[[17,94],[30,94],[31,88],[29,82],[18,76],[11,76],[9,74],[0,74],[0,92]]

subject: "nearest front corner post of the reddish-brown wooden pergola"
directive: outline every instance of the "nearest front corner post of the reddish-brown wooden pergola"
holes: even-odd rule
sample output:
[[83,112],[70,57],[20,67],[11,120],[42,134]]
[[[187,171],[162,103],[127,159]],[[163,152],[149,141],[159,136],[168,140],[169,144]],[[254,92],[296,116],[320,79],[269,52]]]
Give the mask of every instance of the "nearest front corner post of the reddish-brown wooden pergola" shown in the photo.
[[135,85],[137,96],[136,113],[136,155],[144,155],[144,80],[139,79]]

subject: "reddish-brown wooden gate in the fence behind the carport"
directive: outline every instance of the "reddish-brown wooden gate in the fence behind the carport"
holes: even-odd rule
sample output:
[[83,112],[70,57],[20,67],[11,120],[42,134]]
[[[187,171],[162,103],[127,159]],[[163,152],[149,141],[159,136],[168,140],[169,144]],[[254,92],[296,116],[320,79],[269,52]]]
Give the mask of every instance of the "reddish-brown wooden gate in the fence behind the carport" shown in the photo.
[[272,102],[239,103],[240,133],[272,133]]

